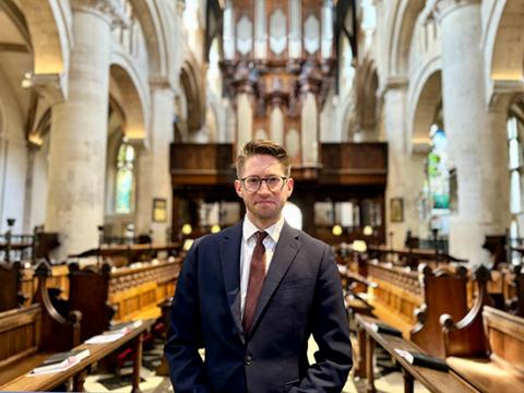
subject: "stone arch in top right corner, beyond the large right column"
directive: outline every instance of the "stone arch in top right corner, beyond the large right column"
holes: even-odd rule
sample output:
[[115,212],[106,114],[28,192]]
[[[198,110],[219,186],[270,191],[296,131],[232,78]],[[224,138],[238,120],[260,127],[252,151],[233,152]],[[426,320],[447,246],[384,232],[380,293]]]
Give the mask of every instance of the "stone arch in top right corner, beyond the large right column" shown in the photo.
[[493,93],[517,92],[524,75],[524,3],[493,1],[483,35],[488,102]]

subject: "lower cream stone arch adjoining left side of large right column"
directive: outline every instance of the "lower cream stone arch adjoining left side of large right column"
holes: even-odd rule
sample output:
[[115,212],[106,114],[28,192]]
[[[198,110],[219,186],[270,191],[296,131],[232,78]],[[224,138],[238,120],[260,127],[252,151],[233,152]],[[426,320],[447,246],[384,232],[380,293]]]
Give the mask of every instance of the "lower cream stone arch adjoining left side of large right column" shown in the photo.
[[442,63],[436,57],[414,75],[407,96],[407,140],[410,146],[429,146],[429,129],[442,102]]

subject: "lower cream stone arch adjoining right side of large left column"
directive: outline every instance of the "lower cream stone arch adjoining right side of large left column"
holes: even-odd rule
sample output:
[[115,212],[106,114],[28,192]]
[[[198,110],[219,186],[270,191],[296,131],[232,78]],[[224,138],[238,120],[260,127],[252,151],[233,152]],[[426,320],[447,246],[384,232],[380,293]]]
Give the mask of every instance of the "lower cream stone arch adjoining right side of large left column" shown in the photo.
[[148,94],[131,60],[122,52],[111,53],[110,75],[119,90],[115,97],[126,116],[124,134],[131,140],[146,138],[148,123]]

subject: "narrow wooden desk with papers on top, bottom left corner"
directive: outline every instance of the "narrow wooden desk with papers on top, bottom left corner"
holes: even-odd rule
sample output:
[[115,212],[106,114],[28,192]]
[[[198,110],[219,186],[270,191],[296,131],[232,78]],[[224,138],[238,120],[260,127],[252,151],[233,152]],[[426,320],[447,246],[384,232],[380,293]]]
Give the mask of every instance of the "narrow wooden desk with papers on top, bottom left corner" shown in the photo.
[[39,361],[34,364],[23,376],[20,376],[11,381],[0,382],[0,391],[48,391],[56,389],[57,386],[71,381],[72,391],[83,391],[84,379],[87,374],[87,369],[93,364],[102,360],[106,356],[115,353],[122,345],[132,342],[133,343],[133,377],[132,377],[132,392],[140,392],[140,366],[142,364],[142,340],[143,334],[154,323],[154,320],[142,321],[140,326],[134,327],[131,332],[117,341],[104,344],[82,344],[75,349],[90,349],[90,356],[82,359],[79,364],[72,366],[64,371],[58,371],[52,373],[43,373],[38,376],[32,376],[28,373],[31,369],[39,365],[46,357],[40,357]]

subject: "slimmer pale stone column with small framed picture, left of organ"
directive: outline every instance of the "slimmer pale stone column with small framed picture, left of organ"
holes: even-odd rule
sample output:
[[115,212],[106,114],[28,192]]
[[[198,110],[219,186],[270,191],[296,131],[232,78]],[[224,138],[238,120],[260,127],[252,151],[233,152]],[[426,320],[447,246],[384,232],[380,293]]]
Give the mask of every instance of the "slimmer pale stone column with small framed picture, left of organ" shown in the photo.
[[[168,241],[171,225],[171,180],[169,145],[172,142],[175,95],[167,81],[152,84],[152,121],[148,145],[139,156],[139,194],[136,211],[138,234],[153,235],[153,241]],[[153,200],[166,201],[164,222],[153,219]]]

